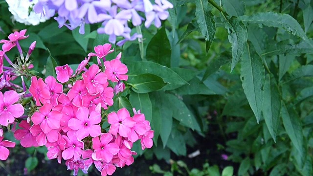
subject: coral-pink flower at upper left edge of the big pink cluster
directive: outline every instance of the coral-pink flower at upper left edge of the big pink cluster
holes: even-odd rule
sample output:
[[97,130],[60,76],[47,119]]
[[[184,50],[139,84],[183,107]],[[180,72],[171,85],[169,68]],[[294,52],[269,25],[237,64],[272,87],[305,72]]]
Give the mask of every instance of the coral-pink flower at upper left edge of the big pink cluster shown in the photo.
[[42,78],[37,80],[36,76],[31,77],[29,92],[33,95],[36,106],[41,106],[40,102],[50,103],[50,91]]

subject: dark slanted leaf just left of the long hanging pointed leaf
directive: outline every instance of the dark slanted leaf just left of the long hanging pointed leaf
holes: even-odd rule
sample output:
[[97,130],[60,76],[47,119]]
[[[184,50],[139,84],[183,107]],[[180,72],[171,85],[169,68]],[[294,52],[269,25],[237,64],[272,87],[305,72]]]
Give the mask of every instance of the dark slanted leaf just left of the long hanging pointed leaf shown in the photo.
[[221,66],[228,64],[231,57],[227,55],[227,53],[222,54],[220,57],[216,57],[214,60],[208,63],[208,66],[204,72],[202,81],[206,80],[210,75],[218,71]]

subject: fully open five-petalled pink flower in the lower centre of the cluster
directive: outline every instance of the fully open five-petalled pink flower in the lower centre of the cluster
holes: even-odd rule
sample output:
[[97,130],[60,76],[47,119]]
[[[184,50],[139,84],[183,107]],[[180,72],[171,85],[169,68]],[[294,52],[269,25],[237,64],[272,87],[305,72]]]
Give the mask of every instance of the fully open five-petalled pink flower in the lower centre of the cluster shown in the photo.
[[82,140],[90,135],[95,137],[101,134],[101,127],[97,125],[101,122],[101,114],[92,111],[89,116],[89,110],[81,107],[76,112],[76,118],[71,118],[68,121],[68,127],[72,130],[77,130],[75,133],[77,138]]

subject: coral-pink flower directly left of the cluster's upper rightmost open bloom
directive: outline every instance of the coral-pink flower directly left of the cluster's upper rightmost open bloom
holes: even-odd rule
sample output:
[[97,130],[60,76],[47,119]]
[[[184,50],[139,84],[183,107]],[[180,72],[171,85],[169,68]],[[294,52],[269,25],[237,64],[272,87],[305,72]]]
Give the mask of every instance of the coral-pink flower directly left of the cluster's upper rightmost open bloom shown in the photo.
[[107,76],[105,73],[100,72],[99,66],[93,64],[89,67],[88,71],[83,73],[84,83],[88,92],[92,95],[102,93],[104,85],[107,83]]

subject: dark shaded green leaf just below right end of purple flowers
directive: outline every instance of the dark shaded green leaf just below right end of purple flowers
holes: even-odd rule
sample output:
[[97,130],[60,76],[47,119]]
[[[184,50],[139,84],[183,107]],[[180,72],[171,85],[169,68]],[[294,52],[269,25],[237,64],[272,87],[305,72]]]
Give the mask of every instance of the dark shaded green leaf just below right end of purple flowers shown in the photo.
[[165,27],[159,29],[147,46],[146,59],[160,65],[171,66],[171,45]]

